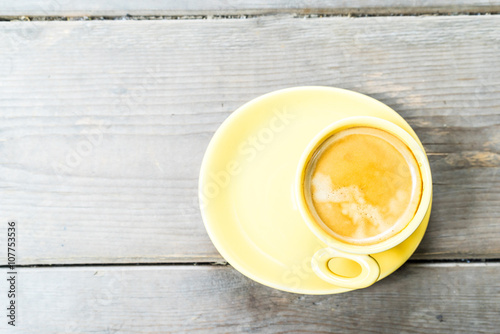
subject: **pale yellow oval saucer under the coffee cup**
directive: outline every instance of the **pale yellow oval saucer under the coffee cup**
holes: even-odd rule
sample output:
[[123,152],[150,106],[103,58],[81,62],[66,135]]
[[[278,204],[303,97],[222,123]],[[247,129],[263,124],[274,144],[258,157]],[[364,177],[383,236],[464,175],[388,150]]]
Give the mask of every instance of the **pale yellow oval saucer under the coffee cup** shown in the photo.
[[[326,245],[297,210],[293,182],[311,139],[332,122],[375,116],[415,132],[394,110],[368,96],[330,87],[297,87],[263,95],[229,116],[213,136],[200,172],[203,221],[219,253],[236,270],[272,288],[304,294],[349,291],[317,277],[314,253]],[[380,279],[413,254],[427,228],[372,256]],[[376,284],[376,283],[375,283]]]

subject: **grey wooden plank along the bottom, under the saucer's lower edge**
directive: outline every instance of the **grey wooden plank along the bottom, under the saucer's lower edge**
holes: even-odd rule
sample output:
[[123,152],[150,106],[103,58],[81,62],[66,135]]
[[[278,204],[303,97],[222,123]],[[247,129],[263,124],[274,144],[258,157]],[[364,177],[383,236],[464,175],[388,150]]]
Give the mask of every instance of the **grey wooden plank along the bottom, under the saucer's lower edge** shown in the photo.
[[21,270],[22,333],[468,334],[500,326],[498,264],[405,265],[367,289],[326,296],[274,290],[231,267]]

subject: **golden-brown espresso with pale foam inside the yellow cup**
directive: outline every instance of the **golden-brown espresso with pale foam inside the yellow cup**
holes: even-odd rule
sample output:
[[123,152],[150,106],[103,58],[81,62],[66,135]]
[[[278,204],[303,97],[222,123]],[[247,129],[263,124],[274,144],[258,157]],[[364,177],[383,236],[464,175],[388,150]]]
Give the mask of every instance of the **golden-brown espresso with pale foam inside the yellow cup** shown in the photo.
[[356,127],[325,140],[308,163],[304,192],[311,214],[334,238],[371,245],[411,221],[422,193],[418,163],[394,135]]

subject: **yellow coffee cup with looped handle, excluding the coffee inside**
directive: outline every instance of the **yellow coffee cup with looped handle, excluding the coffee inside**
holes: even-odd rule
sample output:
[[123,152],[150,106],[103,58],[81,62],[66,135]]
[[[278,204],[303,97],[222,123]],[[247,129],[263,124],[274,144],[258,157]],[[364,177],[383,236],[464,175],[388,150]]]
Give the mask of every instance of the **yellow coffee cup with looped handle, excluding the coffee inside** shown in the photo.
[[[340,240],[325,231],[325,229],[321,227],[321,223],[318,222],[317,215],[312,214],[311,209],[306,202],[304,187],[307,166],[321,144],[340,131],[356,127],[368,127],[383,130],[406,144],[416,159],[422,180],[420,202],[413,218],[411,218],[395,235],[369,245],[347,243],[345,240]],[[415,230],[423,222],[430,207],[432,198],[431,170],[422,145],[418,143],[407,131],[403,130],[396,124],[381,118],[370,116],[344,118],[328,125],[320,133],[318,133],[308,144],[300,158],[294,187],[297,207],[302,218],[314,235],[323,241],[327,246],[317,251],[312,257],[311,265],[315,274],[326,282],[348,289],[365,288],[378,280],[380,276],[380,267],[377,261],[371,257],[370,254],[376,254],[389,250],[399,245],[412,235],[412,233],[415,232]],[[361,272],[355,277],[345,277],[333,272],[330,270],[329,264],[331,263],[331,260],[336,258],[344,258],[358,263],[361,267]]]

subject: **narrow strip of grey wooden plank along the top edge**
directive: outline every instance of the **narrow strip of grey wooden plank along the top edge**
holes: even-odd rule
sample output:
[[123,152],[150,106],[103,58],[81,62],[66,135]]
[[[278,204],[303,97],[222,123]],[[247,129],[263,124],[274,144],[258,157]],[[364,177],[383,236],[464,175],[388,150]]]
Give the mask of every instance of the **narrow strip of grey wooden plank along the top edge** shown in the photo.
[[121,15],[262,15],[298,14],[453,14],[494,13],[497,0],[0,0],[0,16],[121,16]]

